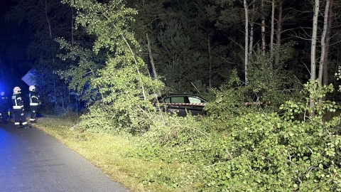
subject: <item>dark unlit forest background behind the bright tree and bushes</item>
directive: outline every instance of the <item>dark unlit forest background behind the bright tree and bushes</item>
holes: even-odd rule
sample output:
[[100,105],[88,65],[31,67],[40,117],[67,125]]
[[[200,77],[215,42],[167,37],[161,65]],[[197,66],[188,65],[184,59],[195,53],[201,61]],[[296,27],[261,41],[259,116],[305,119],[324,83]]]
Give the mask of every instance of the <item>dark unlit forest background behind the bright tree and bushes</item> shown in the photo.
[[[103,2],[109,4],[109,1]],[[247,5],[247,20],[244,3]],[[234,69],[245,84],[260,87],[255,93],[258,95],[269,86],[266,82],[262,85],[259,80],[261,78],[272,81],[281,79],[279,76],[284,75],[293,81],[291,85],[304,84],[310,79],[314,13],[312,1],[128,0],[121,1],[121,4],[138,11],[134,15],[135,22],[129,26],[130,30],[134,31],[134,36],[141,45],[141,57],[148,65],[148,71],[154,78],[166,82],[168,91],[193,92],[205,96],[210,88],[227,83]],[[321,65],[325,5],[326,1],[320,1],[315,51],[316,74]],[[75,90],[69,90],[65,81],[60,80],[56,73],[77,65],[77,61],[58,57],[65,50],[60,49],[60,44],[55,41],[63,38],[74,46],[92,48],[96,37],[85,33],[82,27],[75,27],[76,16],[75,8],[59,0],[17,0],[13,1],[6,12],[6,21],[18,21],[20,26],[26,26],[29,36],[19,38],[28,42],[23,43],[25,47],[20,50],[25,51],[27,60],[15,63],[11,61],[10,66],[1,65],[1,77],[9,77],[10,74],[7,73],[15,70],[13,66],[16,65],[18,70],[28,70],[29,66],[38,70],[38,82],[41,84],[38,87],[40,94],[45,97],[46,109],[53,105],[58,110],[66,110],[77,101],[77,94],[72,95]],[[330,1],[328,18],[328,33],[325,37],[328,44],[323,61],[325,67],[323,77],[318,78],[323,79],[324,85],[334,83],[338,87],[334,75],[340,63],[338,1]],[[1,48],[1,60],[14,58],[11,54],[15,42],[16,39],[11,39],[11,46]],[[100,58],[100,53],[97,57],[97,64],[104,66],[105,59]],[[264,68],[271,70],[263,70]],[[296,88],[291,85],[276,88]],[[337,95],[330,97],[339,100]]]

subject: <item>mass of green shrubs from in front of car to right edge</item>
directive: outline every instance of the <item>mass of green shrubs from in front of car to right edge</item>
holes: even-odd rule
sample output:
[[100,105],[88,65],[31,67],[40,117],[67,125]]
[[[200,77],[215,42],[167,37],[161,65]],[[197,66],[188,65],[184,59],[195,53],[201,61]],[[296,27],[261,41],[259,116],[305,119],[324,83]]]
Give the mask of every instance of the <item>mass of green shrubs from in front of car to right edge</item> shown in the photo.
[[[309,107],[311,92],[332,91],[315,85],[305,85],[305,98],[288,100],[280,111],[231,105],[239,97],[226,96],[240,93],[227,86],[207,107],[209,117],[160,115],[133,154],[195,165],[182,184],[197,191],[340,191],[340,117],[325,119],[337,110],[333,102]],[[305,116],[310,110],[314,117]],[[179,184],[176,176],[158,179]]]

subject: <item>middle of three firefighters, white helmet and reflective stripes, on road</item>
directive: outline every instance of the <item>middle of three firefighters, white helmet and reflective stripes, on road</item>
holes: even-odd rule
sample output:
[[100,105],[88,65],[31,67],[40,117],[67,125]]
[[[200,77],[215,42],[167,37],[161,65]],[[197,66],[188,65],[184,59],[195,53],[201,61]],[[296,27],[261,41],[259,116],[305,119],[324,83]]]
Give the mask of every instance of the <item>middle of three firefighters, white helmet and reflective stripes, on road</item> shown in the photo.
[[13,113],[14,113],[14,124],[16,125],[16,129],[19,128],[28,128],[28,124],[26,122],[26,117],[23,114],[23,100],[21,98],[21,89],[20,87],[14,87],[13,95]]

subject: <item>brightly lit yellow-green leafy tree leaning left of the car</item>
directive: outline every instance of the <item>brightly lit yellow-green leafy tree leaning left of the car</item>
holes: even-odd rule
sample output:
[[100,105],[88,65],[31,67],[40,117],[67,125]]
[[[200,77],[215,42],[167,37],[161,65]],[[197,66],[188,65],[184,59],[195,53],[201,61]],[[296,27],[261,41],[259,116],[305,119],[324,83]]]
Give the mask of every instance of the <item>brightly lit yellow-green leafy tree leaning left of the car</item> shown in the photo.
[[[63,2],[77,10],[77,28],[94,37],[92,51],[105,55],[105,65],[85,87],[99,92],[102,98],[90,107],[90,113],[85,116],[86,126],[134,132],[145,130],[148,127],[146,112],[155,110],[151,95],[161,83],[149,75],[141,58],[141,48],[131,30],[136,10],[126,7],[123,0]],[[91,68],[89,64],[88,68]],[[82,66],[73,70],[77,68]],[[95,123],[92,122],[94,119],[97,119]]]

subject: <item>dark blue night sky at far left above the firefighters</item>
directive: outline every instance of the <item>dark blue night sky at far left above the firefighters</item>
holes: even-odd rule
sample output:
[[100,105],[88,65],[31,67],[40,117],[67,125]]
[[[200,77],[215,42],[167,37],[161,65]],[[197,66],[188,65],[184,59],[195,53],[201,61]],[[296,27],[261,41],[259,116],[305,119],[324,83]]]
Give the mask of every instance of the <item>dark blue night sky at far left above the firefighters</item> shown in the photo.
[[25,23],[6,21],[6,11],[11,5],[11,0],[0,0],[0,90],[8,93],[15,86],[26,90],[28,85],[21,78],[32,65],[26,55],[29,35]]

